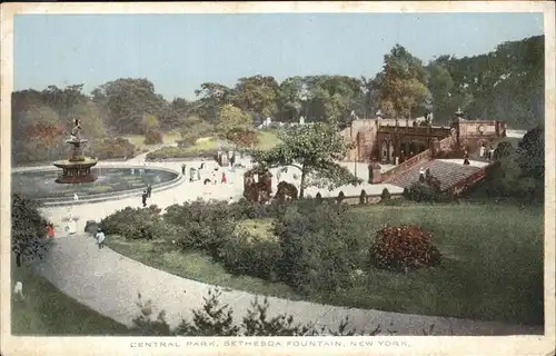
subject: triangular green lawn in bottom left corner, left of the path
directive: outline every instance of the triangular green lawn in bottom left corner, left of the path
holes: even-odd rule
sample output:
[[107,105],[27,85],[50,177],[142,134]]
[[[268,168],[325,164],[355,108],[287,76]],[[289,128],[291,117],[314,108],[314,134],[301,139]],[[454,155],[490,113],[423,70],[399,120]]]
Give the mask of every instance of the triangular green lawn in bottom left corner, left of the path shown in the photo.
[[12,289],[23,283],[24,300],[12,298],[11,334],[50,335],[131,335],[129,329],[66,296],[27,267],[12,267]]

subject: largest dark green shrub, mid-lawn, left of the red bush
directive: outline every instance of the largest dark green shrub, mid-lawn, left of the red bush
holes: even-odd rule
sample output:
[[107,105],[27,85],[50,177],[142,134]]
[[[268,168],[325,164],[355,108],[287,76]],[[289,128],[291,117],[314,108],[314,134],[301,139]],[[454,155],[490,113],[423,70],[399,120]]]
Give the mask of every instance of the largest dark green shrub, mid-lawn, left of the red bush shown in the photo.
[[337,291],[351,285],[354,236],[339,205],[291,205],[275,221],[282,258],[280,279],[301,293]]

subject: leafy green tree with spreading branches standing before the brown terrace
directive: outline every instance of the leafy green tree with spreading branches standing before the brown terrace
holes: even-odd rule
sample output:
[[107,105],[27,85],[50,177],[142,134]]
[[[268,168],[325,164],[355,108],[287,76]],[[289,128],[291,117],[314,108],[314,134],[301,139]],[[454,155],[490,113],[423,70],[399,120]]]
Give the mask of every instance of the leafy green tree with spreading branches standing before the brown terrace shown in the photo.
[[252,159],[260,168],[290,166],[298,169],[301,175],[300,198],[309,186],[328,186],[334,189],[360,182],[338,164],[353,146],[339,135],[337,122],[329,120],[294,126],[279,137],[280,144],[272,149],[252,151]]

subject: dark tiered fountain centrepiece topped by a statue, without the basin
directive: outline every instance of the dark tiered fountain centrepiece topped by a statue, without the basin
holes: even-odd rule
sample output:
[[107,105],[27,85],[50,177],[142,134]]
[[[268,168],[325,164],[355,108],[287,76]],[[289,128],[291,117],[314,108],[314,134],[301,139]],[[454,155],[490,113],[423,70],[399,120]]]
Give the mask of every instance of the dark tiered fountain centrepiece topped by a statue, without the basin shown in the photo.
[[64,160],[57,160],[53,165],[62,169],[62,174],[58,176],[56,182],[61,184],[78,184],[91,182],[97,180],[97,177],[91,172],[91,167],[97,165],[97,160],[91,157],[83,156],[82,146],[88,142],[81,138],[79,131],[81,126],[79,119],[73,120],[73,129],[71,130],[69,140],[66,144],[72,146],[70,157]]

